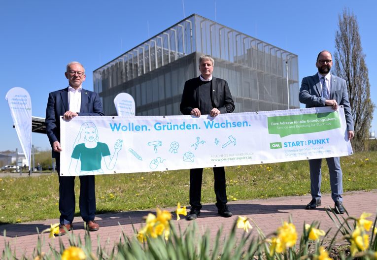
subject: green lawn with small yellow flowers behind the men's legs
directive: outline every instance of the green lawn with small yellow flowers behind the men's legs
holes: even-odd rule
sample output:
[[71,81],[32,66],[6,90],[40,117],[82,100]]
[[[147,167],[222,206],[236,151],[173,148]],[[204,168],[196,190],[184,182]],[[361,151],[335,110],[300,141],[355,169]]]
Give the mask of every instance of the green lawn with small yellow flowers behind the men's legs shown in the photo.
[[[376,189],[377,152],[341,158],[343,190]],[[330,192],[323,161],[322,193]],[[18,174],[18,173],[15,173]],[[229,201],[310,194],[307,161],[226,167]],[[189,205],[189,170],[96,176],[97,213]],[[0,224],[59,218],[57,174],[0,177]],[[80,182],[76,178],[76,214]],[[213,172],[203,175],[202,203],[215,201]]]

